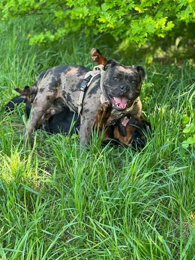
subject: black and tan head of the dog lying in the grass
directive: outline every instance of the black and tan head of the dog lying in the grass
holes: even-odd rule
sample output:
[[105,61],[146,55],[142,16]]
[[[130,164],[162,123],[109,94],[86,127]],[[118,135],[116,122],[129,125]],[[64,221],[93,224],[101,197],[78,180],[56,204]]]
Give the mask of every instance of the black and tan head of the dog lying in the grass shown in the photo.
[[133,117],[124,117],[117,121],[114,138],[121,144],[142,148],[146,144],[146,134],[150,128],[149,122]]

